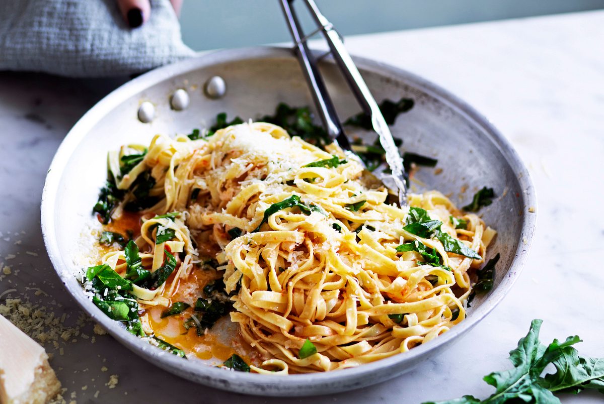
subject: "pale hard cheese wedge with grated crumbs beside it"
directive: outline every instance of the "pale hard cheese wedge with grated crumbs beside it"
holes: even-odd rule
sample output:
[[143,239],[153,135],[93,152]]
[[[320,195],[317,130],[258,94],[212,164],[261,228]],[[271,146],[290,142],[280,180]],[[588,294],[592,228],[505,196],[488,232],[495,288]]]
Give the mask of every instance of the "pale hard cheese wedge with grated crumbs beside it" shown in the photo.
[[44,404],[60,388],[46,351],[0,315],[0,404]]

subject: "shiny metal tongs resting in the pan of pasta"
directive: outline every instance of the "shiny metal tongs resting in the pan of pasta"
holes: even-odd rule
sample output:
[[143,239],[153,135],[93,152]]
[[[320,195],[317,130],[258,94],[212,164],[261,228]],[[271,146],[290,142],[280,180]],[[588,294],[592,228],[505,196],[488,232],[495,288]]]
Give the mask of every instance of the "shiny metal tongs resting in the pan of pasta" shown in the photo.
[[292,39],[294,39],[294,51],[298,57],[298,62],[300,62],[302,71],[304,72],[304,77],[309,85],[310,92],[313,96],[313,101],[315,101],[316,109],[321,117],[321,121],[323,122],[323,127],[327,131],[330,139],[337,142],[342,149],[352,153],[350,140],[342,129],[342,124],[338,119],[332,99],[330,98],[329,93],[327,93],[325,83],[323,78],[321,78],[321,74],[316,65],[316,58],[310,52],[306,43],[310,37],[318,32],[321,32],[327,40],[330,53],[333,55],[336,65],[339,67],[342,74],[344,74],[350,89],[352,89],[352,92],[354,93],[358,103],[361,105],[363,111],[367,115],[371,116],[373,130],[378,134],[379,142],[386,152],[386,162],[391,169],[392,180],[398,191],[400,206],[406,206],[408,202],[406,197],[407,191],[404,179],[405,168],[403,167],[403,159],[400,157],[399,150],[394,144],[394,139],[390,133],[390,129],[384,120],[382,112],[377,106],[376,100],[371,95],[367,84],[365,84],[365,81],[361,77],[361,74],[356,68],[355,63],[352,61],[350,54],[344,48],[344,43],[342,42],[341,37],[333,28],[333,25],[327,21],[323,14],[321,14],[321,11],[319,11],[318,7],[316,7],[315,2],[313,0],[304,0],[304,3],[306,3],[306,6],[310,11],[310,14],[318,25],[316,30],[305,35],[301,28],[300,22],[298,21],[294,7],[292,7],[294,1],[295,0],[280,0],[281,6],[283,7],[283,13],[285,14],[285,19],[288,22],[289,30],[292,34]]

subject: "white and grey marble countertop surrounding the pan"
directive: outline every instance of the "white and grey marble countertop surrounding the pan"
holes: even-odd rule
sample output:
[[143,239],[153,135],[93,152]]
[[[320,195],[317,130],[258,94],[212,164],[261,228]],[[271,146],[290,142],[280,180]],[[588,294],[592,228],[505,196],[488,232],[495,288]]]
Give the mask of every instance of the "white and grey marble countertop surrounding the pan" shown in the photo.
[[[603,39],[604,11],[347,38],[351,53],[434,81],[501,130],[535,183],[538,230],[510,294],[442,356],[380,385],[288,403],[485,398],[493,389],[482,377],[510,367],[507,353],[533,318],[544,319],[542,341],[578,334],[585,341],[577,347],[583,355],[604,356],[604,271],[598,260],[604,250]],[[0,271],[0,295],[16,289],[0,296],[0,303],[27,296],[57,317],[66,314],[65,324],[82,314],[48,260],[40,196],[69,128],[121,82],[0,73],[0,263],[11,267],[10,274]],[[48,348],[68,402],[283,402],[195,385],[150,366],[111,336],[95,335],[92,324],[82,332],[89,338],[60,344],[63,355]],[[106,385],[111,374],[119,375],[115,388]],[[602,400],[589,393],[561,398]]]

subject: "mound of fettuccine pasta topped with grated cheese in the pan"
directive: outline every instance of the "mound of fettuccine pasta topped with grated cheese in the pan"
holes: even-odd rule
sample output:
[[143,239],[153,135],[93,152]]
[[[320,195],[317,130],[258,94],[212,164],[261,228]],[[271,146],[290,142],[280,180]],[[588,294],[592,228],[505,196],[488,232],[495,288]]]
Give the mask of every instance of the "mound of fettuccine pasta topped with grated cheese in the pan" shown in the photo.
[[[398,207],[335,145],[322,150],[263,122],[198,140],[157,135],[144,150],[123,147],[109,166],[123,193],[114,221],[132,204],[142,209],[134,238],[147,278],[133,272],[133,244],[101,262],[130,279],[144,335],[158,333],[152,309],[176,300],[191,306],[182,320],[201,305],[201,318],[188,322],[199,330],[214,301],[207,291],[196,301],[208,279],[222,279],[222,302],[232,305],[230,321],[252,352],[242,355],[257,373],[355,367],[466,317],[469,270],[483,264],[495,231],[439,192],[412,194],[411,208]],[[214,272],[201,284],[196,273],[208,262]]]

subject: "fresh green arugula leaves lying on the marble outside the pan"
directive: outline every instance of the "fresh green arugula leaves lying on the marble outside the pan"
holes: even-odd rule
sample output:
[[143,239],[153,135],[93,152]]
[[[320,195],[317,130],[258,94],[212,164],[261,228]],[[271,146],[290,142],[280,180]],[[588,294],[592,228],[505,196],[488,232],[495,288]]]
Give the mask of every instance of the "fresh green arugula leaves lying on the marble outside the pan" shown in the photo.
[[[553,392],[579,393],[585,388],[594,388],[604,393],[604,358],[580,357],[573,347],[581,341],[576,335],[569,336],[564,342],[554,339],[547,347],[544,346],[539,341],[541,324],[542,320],[533,320],[527,336],[510,351],[509,359],[514,368],[484,376],[484,381],[496,389],[490,397],[478,400],[463,396],[439,404],[559,403]],[[541,376],[549,364],[554,365],[556,373]]]

